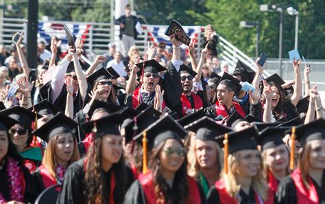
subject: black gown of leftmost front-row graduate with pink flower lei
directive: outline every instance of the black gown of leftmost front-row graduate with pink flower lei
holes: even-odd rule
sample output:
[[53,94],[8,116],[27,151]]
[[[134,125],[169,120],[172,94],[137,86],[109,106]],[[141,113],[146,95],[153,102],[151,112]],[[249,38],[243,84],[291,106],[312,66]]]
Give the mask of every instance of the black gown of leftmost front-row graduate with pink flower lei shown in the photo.
[[[6,201],[10,201],[10,188],[9,188],[9,177],[7,172],[7,161],[5,161],[3,168],[0,169],[0,192]],[[34,182],[32,179],[29,170],[25,168],[25,166],[21,166],[23,170],[24,178],[25,178],[25,194],[24,194],[24,202],[25,203],[33,203],[38,196],[37,192],[34,188]]]

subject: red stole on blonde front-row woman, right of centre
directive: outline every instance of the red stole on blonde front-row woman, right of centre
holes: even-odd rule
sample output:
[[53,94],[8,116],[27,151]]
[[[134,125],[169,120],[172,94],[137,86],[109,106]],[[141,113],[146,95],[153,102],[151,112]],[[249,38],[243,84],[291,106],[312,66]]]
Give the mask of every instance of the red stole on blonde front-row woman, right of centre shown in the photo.
[[[226,185],[224,184],[224,179],[220,179],[219,181],[215,182],[215,188],[217,189],[219,193],[219,199],[221,204],[238,204],[238,202],[229,196],[228,192],[226,191]],[[274,196],[271,194],[272,191],[269,190],[268,192],[269,198],[267,201],[263,202],[261,197],[258,196],[258,194],[254,191],[254,196],[255,196],[255,202],[256,204],[273,204],[274,203]]]

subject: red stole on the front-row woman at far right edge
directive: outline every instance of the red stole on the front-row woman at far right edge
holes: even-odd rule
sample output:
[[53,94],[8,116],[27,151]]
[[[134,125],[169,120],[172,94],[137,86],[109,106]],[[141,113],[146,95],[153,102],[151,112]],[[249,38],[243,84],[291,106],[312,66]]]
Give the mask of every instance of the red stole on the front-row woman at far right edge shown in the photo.
[[295,185],[296,185],[297,200],[298,200],[297,204],[319,203],[317,191],[316,191],[315,185],[313,184],[313,181],[311,181],[310,178],[308,179],[309,185],[311,185],[311,187],[309,189],[307,189],[302,181],[300,168],[297,168],[291,174],[291,178],[293,180],[293,183],[295,183]]

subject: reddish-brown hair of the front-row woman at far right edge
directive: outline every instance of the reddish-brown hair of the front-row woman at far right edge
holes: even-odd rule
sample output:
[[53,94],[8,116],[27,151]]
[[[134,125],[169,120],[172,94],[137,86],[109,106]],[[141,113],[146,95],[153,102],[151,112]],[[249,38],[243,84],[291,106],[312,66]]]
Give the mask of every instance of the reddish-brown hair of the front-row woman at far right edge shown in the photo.
[[309,156],[311,155],[311,142],[307,142],[303,148],[300,148],[298,152],[298,168],[300,168],[302,183],[306,186],[306,188],[310,188],[309,184],[309,168],[311,168],[311,164],[309,163]]

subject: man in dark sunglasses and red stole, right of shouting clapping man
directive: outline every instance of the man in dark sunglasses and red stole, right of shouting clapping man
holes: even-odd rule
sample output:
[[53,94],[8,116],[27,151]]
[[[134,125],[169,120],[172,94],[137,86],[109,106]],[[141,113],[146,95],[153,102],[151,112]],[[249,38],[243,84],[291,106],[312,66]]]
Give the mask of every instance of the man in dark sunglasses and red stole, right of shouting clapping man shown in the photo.
[[182,83],[182,96],[180,100],[182,101],[182,115],[188,115],[197,111],[203,107],[203,102],[200,96],[192,92],[193,89],[193,79],[197,73],[187,67],[186,65],[180,66],[180,82]]

